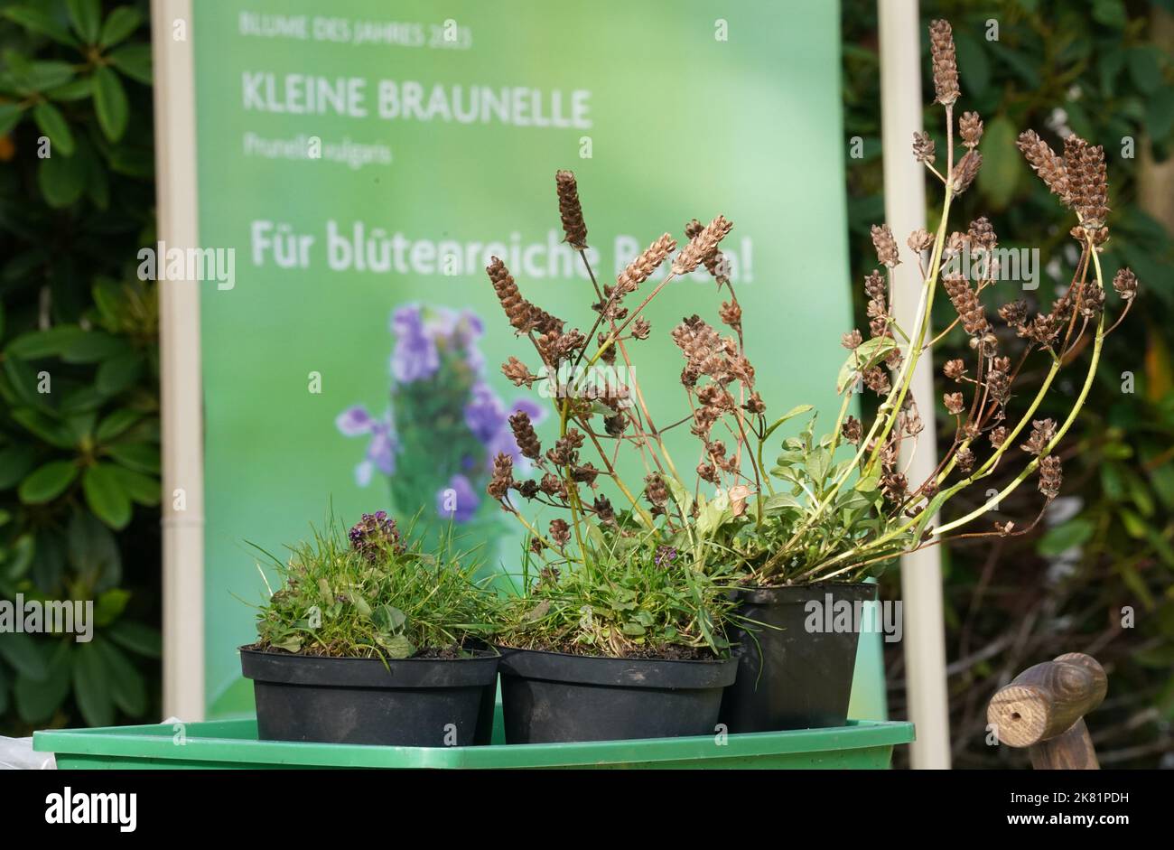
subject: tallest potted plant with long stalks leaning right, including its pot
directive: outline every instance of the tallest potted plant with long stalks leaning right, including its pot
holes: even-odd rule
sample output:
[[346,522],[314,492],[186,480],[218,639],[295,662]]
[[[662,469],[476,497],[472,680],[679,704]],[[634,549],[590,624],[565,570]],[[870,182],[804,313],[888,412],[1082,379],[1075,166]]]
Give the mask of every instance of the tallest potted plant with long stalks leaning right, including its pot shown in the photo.
[[[876,586],[862,582],[898,555],[936,545],[997,510],[999,500],[1028,478],[1035,478],[1044,507],[1055,498],[1062,472],[1054,448],[1074,423],[1094,379],[1105,336],[1116,324],[1106,326],[1099,256],[1108,238],[1104,150],[1072,135],[1061,155],[1031,130],[1019,137],[1018,146],[1048,188],[1074,211],[1072,237],[1079,259],[1071,284],[1050,309],[1028,316],[1026,302],[1010,299],[998,309],[998,318],[987,316],[984,294],[992,290],[993,295],[1008,267],[1018,268],[1018,257],[998,248],[986,218],[966,230],[950,230],[951,201],[966,191],[981,164],[983,122],[977,113],[967,112],[956,129],[959,87],[949,22],[935,21],[930,39],[936,101],[945,108],[946,151],[939,170],[929,134],[915,135],[913,155],[944,187],[936,231],[918,230],[908,240],[923,279],[916,321],[902,328],[893,319],[885,272],[891,276],[902,262],[900,251],[890,228],[876,225],[872,241],[883,271],[871,272],[864,282],[869,337],[853,330],[843,338],[850,353],[837,383],[843,402],[834,427],[816,437],[812,418],[798,437],[782,443],[781,454],[768,465],[763,458],[768,438],[788,418],[809,409],[796,409],[774,421],[757,416],[747,429],[755,439],[742,434],[736,446],[753,467],[756,505],[730,518],[714,537],[715,545],[730,553],[744,573],[736,595],[745,620],[735,623],[730,634],[740,672],[721,714],[730,731],[844,722],[861,603],[876,598]],[[956,147],[965,151],[957,160]],[[1125,302],[1124,317],[1136,278],[1122,269],[1113,288]],[[957,315],[931,338],[929,318],[943,290]],[[954,421],[953,440],[932,474],[924,481],[909,481],[902,448],[923,429],[911,377],[919,359],[956,328],[970,337],[973,359],[944,365],[954,386],[943,399]],[[1061,423],[1038,418],[1060,369],[1088,348],[1089,338],[1087,372],[1071,412]],[[1037,359],[1046,376],[1032,398],[1017,398],[1016,378],[1028,358]],[[853,390],[861,385],[879,397],[871,423],[849,412]],[[977,497],[978,508],[937,524],[950,499],[966,490],[981,491],[987,486],[983,479],[998,466],[1019,460],[1025,461],[1023,470],[1010,485],[994,495]],[[964,537],[1024,534],[1040,517],[1023,527],[996,522],[993,528]]]

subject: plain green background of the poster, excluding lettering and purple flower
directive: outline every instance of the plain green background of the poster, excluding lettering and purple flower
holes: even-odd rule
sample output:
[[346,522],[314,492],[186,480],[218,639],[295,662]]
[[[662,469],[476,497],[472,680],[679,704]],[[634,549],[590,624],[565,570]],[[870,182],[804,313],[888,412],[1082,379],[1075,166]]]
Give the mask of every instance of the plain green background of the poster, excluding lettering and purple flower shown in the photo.
[[[195,6],[200,241],[236,250],[235,285],[205,284],[201,305],[210,715],[251,707],[235,648],[254,635],[254,612],[242,600],[259,601],[264,585],[247,541],[278,553],[331,505],[351,521],[386,506],[378,473],[366,487],[356,483],[363,440],[340,434],[335,420],[351,405],[372,413],[386,405],[392,309],[418,301],[472,310],[485,323],[486,379],[507,405],[522,392],[498,371],[520,346],[484,259],[454,275],[333,270],[328,221],[344,232],[362,222],[367,232],[382,228],[410,241],[545,243],[559,229],[554,171],[571,168],[588,242],[600,254],[596,270],[608,281],[616,262],[630,258],[614,256],[618,236],[635,237],[642,249],[664,231],[681,238],[694,216],[724,214],[735,223],[723,247],[740,261],[735,275],[760,391],[771,410],[812,403],[825,419],[834,416],[838,339],[850,326],[837,4]],[[304,39],[289,28],[247,34],[296,32],[301,25],[290,20],[298,15],[306,16]],[[446,20],[456,23],[456,42],[444,41]],[[399,22],[380,32],[423,43],[343,40],[363,21]],[[726,40],[717,38],[722,21]],[[358,77],[367,114],[258,108],[268,83],[250,94],[245,74],[272,75],[286,109],[299,102],[297,95],[283,100],[288,75]],[[418,81],[425,93],[437,83],[539,89],[547,109],[558,90],[564,110],[569,93],[586,90],[591,127],[384,119],[380,80]],[[329,157],[268,158],[249,153],[249,133],[316,136],[324,147],[343,140],[386,146],[391,162],[351,168]],[[585,137],[589,158],[580,155]],[[258,221],[271,222],[272,232],[288,225],[290,234],[312,236],[308,263],[281,268],[271,251],[257,262],[251,234]],[[527,297],[586,329],[589,283],[518,270],[515,277]],[[650,308],[653,338],[637,369],[654,416],[682,414],[681,362],[669,329],[694,312],[715,319],[718,301],[700,274],[674,283]],[[319,392],[311,392],[312,373],[321,376]],[[696,454],[686,429],[673,432],[669,447],[674,457]],[[508,545],[500,551],[508,553]],[[878,646],[864,642],[853,716],[883,716]]]

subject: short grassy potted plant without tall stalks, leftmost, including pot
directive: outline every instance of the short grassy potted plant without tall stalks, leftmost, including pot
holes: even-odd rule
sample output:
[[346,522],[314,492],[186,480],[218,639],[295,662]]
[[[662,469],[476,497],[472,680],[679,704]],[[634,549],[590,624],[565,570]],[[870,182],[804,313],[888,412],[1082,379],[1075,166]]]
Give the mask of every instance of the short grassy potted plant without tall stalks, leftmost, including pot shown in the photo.
[[261,738],[488,743],[495,596],[451,535],[425,553],[379,511],[349,534],[331,519],[286,562],[269,559],[282,587],[259,608],[257,642],[241,647]]

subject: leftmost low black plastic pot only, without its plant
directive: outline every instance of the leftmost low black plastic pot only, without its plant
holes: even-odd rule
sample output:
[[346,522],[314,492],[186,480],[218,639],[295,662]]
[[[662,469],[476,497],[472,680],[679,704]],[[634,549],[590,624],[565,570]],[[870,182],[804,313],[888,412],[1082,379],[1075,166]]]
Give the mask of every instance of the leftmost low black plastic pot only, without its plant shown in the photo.
[[465,747],[490,742],[499,656],[338,659],[241,647],[265,741]]

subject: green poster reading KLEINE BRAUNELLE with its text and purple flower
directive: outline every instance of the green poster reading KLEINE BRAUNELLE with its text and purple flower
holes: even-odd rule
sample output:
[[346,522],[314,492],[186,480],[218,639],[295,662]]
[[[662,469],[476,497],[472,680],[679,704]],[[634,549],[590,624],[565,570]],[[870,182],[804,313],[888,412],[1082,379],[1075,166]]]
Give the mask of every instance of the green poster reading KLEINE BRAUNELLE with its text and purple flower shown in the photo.
[[[484,267],[500,256],[586,330],[559,168],[603,281],[693,217],[730,218],[758,389],[831,416],[850,325],[836,4],[223,0],[193,28],[200,242],[236,257],[202,296],[211,715],[251,706],[247,541],[279,553],[331,506],[390,508],[510,568],[487,465],[540,399],[500,373],[513,339]],[[668,331],[718,303],[702,269],[647,313],[640,379],[664,421],[687,413]],[[697,452],[687,429],[669,447]],[[869,667],[856,716],[883,711]]]

